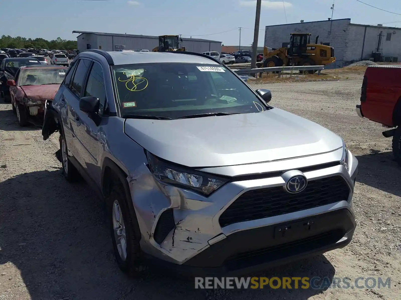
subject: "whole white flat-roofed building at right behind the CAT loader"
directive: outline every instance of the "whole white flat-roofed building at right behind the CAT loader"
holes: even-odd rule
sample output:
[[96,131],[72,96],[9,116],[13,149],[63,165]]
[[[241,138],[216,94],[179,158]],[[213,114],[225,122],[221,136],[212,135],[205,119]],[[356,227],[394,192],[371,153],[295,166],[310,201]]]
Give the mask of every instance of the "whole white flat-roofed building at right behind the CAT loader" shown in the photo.
[[311,44],[330,43],[336,62],[329,68],[342,67],[360,60],[370,60],[381,53],[381,60],[401,60],[401,28],[352,24],[351,19],[323,20],[293,24],[271,25],[265,29],[265,46],[279,48],[290,41],[292,32],[310,33]]

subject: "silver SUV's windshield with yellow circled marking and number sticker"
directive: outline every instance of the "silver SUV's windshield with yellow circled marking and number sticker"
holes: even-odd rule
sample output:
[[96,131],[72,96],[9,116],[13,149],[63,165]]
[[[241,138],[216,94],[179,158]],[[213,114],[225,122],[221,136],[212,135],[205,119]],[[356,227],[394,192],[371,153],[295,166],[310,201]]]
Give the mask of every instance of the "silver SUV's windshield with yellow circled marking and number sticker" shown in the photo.
[[113,66],[113,75],[123,116],[179,118],[267,110],[242,80],[216,64],[131,64]]

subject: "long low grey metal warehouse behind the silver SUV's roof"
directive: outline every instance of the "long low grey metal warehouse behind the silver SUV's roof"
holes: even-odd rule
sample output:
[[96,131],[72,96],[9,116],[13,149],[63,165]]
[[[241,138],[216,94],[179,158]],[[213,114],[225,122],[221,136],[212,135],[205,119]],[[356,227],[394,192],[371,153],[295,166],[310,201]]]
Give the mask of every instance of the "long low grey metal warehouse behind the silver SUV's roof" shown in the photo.
[[[87,49],[101,49],[104,51],[144,49],[152,51],[154,47],[159,46],[158,36],[76,30],[73,33],[79,33],[79,36],[77,36],[79,52]],[[221,53],[221,42],[219,41],[182,38],[182,46],[185,46],[185,49],[191,52],[217,51]]]

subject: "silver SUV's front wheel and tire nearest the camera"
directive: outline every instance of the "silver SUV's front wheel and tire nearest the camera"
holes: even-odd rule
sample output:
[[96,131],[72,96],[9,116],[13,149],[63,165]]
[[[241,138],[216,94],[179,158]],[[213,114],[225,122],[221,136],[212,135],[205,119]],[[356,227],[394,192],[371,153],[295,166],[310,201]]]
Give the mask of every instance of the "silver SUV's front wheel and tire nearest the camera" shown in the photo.
[[[134,232],[132,214],[128,207],[129,200],[126,199],[124,188],[120,182],[112,183],[110,195],[106,201],[115,260],[124,273],[134,276],[142,269],[139,240],[135,238],[140,234]],[[124,240],[124,237],[125,243],[120,242]]]

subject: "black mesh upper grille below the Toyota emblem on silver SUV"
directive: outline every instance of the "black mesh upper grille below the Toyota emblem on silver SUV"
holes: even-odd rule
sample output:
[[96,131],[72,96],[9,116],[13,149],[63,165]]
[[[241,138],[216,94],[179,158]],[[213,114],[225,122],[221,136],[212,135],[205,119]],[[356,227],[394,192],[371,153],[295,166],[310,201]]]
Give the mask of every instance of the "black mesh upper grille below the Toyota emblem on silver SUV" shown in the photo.
[[348,185],[341,176],[309,181],[306,189],[298,194],[290,194],[282,186],[250,190],[221,214],[219,223],[224,227],[346,201],[349,193]]

